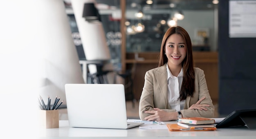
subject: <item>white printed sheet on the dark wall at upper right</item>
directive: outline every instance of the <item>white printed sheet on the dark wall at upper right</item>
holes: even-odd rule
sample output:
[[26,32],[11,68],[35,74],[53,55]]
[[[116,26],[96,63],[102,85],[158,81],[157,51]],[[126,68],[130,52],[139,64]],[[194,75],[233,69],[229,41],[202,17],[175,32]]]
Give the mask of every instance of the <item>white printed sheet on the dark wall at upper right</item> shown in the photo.
[[229,0],[229,37],[256,38],[256,0]]

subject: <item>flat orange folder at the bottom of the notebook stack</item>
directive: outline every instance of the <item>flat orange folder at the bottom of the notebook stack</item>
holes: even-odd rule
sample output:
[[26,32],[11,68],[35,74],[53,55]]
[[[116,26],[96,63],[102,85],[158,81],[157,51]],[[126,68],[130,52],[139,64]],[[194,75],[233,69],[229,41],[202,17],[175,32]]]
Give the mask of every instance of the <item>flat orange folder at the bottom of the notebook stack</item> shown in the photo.
[[178,126],[177,124],[166,124],[169,131],[213,131],[217,128],[184,128],[182,126]]

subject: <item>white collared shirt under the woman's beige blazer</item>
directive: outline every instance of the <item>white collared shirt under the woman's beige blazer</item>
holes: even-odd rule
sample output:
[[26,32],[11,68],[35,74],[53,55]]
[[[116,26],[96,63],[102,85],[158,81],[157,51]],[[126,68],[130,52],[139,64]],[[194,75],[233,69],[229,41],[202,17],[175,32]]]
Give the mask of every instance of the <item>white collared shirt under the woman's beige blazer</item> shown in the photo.
[[177,77],[173,76],[168,68],[168,64],[166,64],[166,70],[168,82],[168,103],[170,104],[171,109],[178,112],[180,110],[183,110],[185,105],[185,100],[178,100],[178,98],[180,97],[180,88],[183,80],[183,68],[180,70],[180,73]]

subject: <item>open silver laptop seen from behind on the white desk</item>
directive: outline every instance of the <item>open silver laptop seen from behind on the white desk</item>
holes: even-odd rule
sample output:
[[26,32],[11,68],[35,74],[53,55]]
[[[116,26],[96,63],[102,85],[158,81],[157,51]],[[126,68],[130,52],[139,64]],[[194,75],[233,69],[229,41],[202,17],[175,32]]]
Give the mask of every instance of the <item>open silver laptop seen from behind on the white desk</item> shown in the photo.
[[70,127],[128,129],[122,84],[65,84]]

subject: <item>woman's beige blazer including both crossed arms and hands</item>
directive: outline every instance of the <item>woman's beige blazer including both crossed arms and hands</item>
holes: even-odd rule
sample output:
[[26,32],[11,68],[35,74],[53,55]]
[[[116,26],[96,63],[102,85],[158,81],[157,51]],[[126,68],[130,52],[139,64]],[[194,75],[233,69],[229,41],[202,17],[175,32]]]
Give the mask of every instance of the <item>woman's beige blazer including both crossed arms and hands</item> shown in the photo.
[[[204,72],[200,69],[195,71],[195,92],[193,97],[187,98],[189,100],[186,100],[186,105],[181,110],[182,115],[183,117],[213,118],[214,106],[207,89]],[[139,117],[141,120],[148,121],[176,120],[177,112],[168,107],[166,82],[162,78],[157,80],[155,73],[157,76],[162,75],[153,70],[145,74],[145,83],[139,102]]]

